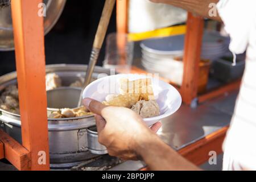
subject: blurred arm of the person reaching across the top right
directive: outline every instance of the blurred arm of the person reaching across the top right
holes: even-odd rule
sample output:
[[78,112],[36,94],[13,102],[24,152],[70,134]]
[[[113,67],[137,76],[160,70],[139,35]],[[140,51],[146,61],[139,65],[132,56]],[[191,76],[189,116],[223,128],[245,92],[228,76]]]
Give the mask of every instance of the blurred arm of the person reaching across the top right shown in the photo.
[[212,7],[209,7],[210,3],[218,3],[219,0],[150,0],[155,3],[166,3],[169,5],[173,5],[176,7],[180,7],[181,9],[187,10],[191,13],[198,14],[200,16],[204,16],[206,18],[214,19],[221,21],[220,16],[210,17],[209,10]]

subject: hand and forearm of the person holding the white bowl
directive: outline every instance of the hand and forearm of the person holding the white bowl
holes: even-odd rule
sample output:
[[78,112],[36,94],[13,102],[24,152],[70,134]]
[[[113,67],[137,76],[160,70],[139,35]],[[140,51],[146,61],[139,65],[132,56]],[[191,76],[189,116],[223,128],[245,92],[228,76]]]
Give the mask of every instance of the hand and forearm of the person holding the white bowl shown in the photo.
[[152,132],[159,129],[159,123],[150,130],[131,109],[105,106],[89,98],[83,104],[96,114],[98,140],[109,155],[125,160],[142,158],[152,170],[199,170]]

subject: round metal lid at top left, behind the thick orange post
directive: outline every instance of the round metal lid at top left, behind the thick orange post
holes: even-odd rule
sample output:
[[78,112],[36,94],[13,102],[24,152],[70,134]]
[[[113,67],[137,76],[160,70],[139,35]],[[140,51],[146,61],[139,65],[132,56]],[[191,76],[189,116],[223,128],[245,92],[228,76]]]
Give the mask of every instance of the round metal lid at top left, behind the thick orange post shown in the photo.
[[[47,34],[59,19],[66,0],[44,0],[43,2],[46,4],[44,32]],[[11,6],[8,6],[0,9],[0,51],[13,49],[13,22],[11,20]]]

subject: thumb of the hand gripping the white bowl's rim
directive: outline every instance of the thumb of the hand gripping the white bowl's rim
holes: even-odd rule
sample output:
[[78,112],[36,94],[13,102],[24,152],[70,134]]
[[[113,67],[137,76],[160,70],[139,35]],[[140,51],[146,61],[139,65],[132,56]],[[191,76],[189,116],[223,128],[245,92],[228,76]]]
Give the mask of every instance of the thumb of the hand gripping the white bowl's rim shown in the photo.
[[92,100],[90,98],[85,98],[82,100],[82,104],[90,110],[94,114],[102,115],[101,111],[106,107],[104,104],[101,102],[98,102],[96,100]]

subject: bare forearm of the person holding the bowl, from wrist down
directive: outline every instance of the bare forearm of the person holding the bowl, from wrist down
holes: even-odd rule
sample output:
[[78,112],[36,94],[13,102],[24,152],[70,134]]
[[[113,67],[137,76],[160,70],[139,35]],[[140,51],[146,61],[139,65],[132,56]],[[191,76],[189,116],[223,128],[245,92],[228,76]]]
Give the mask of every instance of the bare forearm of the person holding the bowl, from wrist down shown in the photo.
[[137,153],[151,170],[200,170],[200,168],[172,150],[156,135],[148,136],[146,140],[138,144]]

